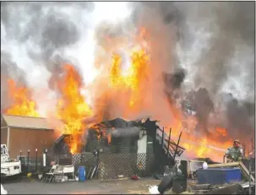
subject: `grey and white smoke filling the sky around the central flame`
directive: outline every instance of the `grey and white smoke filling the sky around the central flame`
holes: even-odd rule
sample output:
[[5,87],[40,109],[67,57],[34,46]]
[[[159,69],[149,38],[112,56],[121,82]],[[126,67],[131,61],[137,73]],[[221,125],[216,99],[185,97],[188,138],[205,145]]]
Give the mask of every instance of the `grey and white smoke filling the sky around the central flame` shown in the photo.
[[[84,78],[89,79],[90,75],[95,75],[94,68],[88,65],[93,62],[92,57],[106,62],[109,59],[104,52],[116,50],[118,44],[123,43],[123,36],[132,36],[130,34],[136,29],[144,27],[152,44],[150,66],[154,75],[150,86],[163,89],[170,101],[184,96],[193,99],[192,102],[205,100],[208,106],[192,103],[196,105],[203,127],[217,121],[230,128],[234,137],[241,128],[248,129],[246,131],[252,135],[254,3],[147,2],[129,5],[133,8],[129,19],[120,24],[103,24],[92,16],[95,3],[1,3],[1,56],[5,58],[1,61],[1,70],[3,67],[20,69],[25,73],[5,72],[33,87],[40,84],[54,88],[50,78],[61,74],[63,62],[72,62]],[[110,14],[102,17],[107,18]],[[106,37],[115,42],[107,42]],[[92,47],[87,49],[86,44]],[[189,91],[196,95],[190,98]],[[154,100],[160,102],[161,91],[152,94],[157,94]],[[160,106],[159,112],[165,113],[167,106],[161,102],[152,112]],[[112,109],[106,107],[106,110]],[[166,118],[163,116],[159,120],[170,120],[163,115]]]

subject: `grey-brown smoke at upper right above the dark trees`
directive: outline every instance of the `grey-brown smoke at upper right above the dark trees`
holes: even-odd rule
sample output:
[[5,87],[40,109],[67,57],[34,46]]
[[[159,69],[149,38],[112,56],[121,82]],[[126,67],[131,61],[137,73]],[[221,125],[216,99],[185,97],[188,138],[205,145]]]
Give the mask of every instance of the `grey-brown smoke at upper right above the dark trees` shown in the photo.
[[193,80],[194,88],[208,89],[211,96],[230,92],[237,99],[252,101],[255,74],[253,3],[186,5],[177,3],[177,8],[187,15],[183,35],[194,36],[191,41],[184,39],[186,47],[182,47],[180,55],[183,55],[180,57],[182,65],[190,72],[188,80]]

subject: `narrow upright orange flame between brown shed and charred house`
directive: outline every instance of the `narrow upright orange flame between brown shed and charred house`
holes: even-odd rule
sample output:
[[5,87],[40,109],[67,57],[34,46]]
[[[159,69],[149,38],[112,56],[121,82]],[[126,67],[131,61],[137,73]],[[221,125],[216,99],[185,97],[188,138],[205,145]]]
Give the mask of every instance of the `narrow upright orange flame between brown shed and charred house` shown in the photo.
[[71,153],[79,151],[81,134],[86,127],[84,117],[93,115],[90,106],[81,95],[82,79],[72,65],[65,65],[63,78],[57,81],[61,95],[57,104],[57,117],[65,124],[64,133],[71,134],[74,140],[70,143]]

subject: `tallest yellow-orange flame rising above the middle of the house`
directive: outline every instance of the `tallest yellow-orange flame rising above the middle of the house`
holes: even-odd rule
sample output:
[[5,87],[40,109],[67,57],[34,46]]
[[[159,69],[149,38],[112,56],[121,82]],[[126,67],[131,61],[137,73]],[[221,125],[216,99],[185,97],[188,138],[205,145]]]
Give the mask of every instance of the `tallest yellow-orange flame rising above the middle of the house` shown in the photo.
[[112,55],[111,70],[108,75],[110,89],[104,94],[112,101],[118,100],[118,106],[122,110],[121,116],[127,119],[133,118],[136,113],[143,110],[144,95],[147,95],[144,85],[150,78],[150,58],[143,35],[143,33],[139,35],[139,44],[127,51],[128,68],[123,68],[125,59],[121,55],[117,53]]

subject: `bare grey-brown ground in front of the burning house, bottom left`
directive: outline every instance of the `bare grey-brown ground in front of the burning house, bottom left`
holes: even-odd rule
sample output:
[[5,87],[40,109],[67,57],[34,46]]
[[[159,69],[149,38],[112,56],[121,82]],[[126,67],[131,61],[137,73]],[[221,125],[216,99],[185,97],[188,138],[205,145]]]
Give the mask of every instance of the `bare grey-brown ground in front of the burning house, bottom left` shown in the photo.
[[160,183],[155,179],[130,179],[112,181],[67,181],[60,183],[45,183],[36,179],[16,179],[14,181],[2,181],[3,187],[11,194],[145,194],[148,188]]

